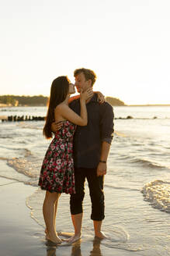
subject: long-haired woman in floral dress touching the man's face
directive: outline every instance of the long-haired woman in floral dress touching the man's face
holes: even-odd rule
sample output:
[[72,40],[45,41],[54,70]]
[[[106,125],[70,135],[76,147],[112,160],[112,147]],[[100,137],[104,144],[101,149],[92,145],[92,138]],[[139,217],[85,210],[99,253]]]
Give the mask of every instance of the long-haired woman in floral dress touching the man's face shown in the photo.
[[43,201],[43,218],[46,223],[47,239],[55,244],[61,244],[61,239],[56,233],[57,201],[61,193],[75,193],[75,176],[72,158],[72,140],[75,125],[87,125],[87,110],[85,101],[92,97],[89,89],[80,95],[81,115],[78,116],[68,107],[70,94],[75,93],[75,86],[70,84],[67,76],[57,77],[50,88],[50,101],[47,111],[43,134],[52,137],[50,125],[53,120],[62,122],[61,130],[55,133],[40,171],[39,186],[46,190]]

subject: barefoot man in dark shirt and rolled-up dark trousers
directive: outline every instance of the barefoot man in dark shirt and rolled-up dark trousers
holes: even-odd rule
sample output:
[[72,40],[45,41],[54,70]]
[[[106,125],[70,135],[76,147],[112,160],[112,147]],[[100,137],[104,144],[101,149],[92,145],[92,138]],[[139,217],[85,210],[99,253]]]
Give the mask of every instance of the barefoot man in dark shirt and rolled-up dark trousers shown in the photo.
[[[75,87],[77,91],[86,91],[95,84],[95,73],[90,69],[75,69]],[[78,114],[80,113],[79,98],[69,104]],[[101,231],[104,219],[103,177],[106,175],[106,162],[109,148],[113,139],[113,108],[109,103],[99,104],[97,94],[86,102],[88,125],[78,126],[74,135],[75,162],[75,194],[71,194],[71,219],[75,227],[75,235],[68,241],[78,240],[82,233],[82,201],[85,195],[85,178],[92,201],[92,215],[95,236],[106,238]]]

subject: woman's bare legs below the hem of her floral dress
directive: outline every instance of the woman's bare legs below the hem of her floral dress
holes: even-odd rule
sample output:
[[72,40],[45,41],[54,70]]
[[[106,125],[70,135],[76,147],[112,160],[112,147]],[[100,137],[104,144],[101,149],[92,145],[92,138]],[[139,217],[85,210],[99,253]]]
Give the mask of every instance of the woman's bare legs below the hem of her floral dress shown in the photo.
[[56,192],[50,193],[49,191],[46,191],[46,196],[43,201],[43,218],[47,226],[47,238],[57,244],[61,243],[61,239],[57,236],[56,233],[54,217],[57,213],[57,208],[55,205],[57,205],[59,196],[60,194]]

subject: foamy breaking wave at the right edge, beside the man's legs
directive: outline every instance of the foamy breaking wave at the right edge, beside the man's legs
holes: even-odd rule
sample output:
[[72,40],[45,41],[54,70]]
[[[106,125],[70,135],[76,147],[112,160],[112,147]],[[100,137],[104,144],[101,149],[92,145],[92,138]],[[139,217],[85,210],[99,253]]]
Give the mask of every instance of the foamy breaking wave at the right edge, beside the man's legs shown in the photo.
[[170,213],[170,182],[154,180],[147,183],[141,192],[153,208]]

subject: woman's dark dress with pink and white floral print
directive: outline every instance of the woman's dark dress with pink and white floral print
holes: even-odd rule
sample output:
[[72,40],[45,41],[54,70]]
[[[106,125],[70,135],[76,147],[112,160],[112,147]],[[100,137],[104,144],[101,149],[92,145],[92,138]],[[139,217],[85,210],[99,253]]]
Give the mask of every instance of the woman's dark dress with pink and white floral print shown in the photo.
[[73,135],[75,124],[65,120],[55,133],[40,170],[39,186],[50,192],[75,194]]

